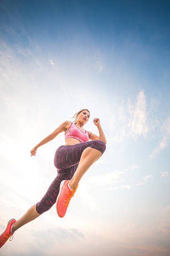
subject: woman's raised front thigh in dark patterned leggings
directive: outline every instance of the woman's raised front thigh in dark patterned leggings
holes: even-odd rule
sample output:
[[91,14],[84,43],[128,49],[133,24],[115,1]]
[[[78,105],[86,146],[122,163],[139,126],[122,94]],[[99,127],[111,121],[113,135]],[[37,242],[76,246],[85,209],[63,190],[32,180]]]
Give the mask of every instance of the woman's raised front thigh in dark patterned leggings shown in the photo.
[[99,150],[102,154],[105,151],[105,143],[101,140],[87,141],[75,145],[60,146],[57,148],[54,157],[54,165],[57,170],[67,169],[78,164],[85,148],[91,147]]

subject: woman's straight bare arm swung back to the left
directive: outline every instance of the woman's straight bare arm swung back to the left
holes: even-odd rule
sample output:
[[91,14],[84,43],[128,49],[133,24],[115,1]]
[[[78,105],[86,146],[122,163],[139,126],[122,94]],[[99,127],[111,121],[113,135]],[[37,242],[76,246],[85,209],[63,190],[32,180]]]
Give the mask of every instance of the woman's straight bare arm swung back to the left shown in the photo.
[[40,143],[38,143],[34,148],[32,148],[31,152],[31,156],[34,155],[37,151],[37,148],[39,148],[40,146],[44,145],[45,143],[52,141],[59,133],[65,131],[67,129],[67,126],[70,124],[70,121],[64,121],[63,123],[61,123],[57,129],[55,129],[55,131],[53,131],[50,135],[48,135],[46,138],[44,138],[42,141],[40,141]]

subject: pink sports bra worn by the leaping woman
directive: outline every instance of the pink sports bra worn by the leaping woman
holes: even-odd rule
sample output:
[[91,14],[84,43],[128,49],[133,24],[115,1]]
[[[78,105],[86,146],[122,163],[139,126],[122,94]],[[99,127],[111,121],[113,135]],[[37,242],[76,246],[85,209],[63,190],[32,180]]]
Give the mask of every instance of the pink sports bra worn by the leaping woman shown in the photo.
[[65,140],[66,138],[76,138],[80,142],[89,141],[88,132],[81,131],[75,123],[71,123],[70,127],[68,128],[68,131],[65,133]]

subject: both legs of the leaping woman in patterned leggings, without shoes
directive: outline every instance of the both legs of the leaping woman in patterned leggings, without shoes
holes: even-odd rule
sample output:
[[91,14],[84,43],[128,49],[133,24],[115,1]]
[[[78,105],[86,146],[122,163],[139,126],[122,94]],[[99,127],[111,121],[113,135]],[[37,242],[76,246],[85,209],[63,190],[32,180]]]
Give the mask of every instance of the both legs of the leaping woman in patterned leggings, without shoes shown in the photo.
[[[60,182],[63,179],[70,179],[69,185],[75,189],[83,174],[100,158],[105,148],[105,143],[100,140],[59,147],[54,160],[59,174],[50,185],[42,200],[32,205],[23,217],[13,224],[12,231],[14,232],[26,223],[36,219],[55,204],[60,190]],[[62,152],[63,150],[64,152]]]

